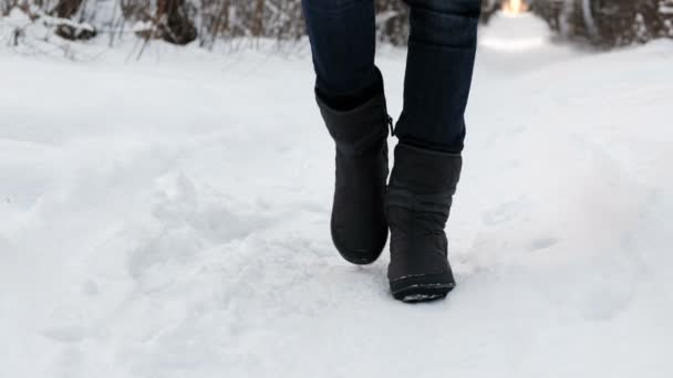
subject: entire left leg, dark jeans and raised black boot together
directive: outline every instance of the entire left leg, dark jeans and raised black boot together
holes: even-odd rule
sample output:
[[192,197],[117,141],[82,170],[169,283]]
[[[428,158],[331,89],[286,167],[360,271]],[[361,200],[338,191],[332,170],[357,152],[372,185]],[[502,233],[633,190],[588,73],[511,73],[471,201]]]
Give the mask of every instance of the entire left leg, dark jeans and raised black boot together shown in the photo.
[[373,0],[303,0],[315,97],[335,141],[332,240],[354,264],[374,262],[387,240],[384,199],[389,116],[374,65]]

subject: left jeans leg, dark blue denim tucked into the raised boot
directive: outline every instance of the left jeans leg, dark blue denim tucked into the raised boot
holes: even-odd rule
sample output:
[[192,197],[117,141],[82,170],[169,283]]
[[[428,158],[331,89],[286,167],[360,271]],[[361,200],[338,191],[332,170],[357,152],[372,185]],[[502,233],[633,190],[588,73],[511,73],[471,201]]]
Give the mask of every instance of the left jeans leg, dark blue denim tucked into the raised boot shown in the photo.
[[334,108],[346,109],[383,92],[374,66],[374,1],[302,0],[302,7],[318,96]]

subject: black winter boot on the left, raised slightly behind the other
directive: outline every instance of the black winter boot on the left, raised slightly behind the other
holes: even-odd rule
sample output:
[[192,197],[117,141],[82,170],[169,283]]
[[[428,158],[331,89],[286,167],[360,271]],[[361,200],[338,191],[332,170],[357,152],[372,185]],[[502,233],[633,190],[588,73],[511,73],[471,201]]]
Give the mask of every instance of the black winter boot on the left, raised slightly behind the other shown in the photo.
[[387,239],[385,181],[390,118],[379,95],[351,109],[336,111],[318,97],[328,130],[336,143],[336,182],[332,241],[353,264],[371,264]]

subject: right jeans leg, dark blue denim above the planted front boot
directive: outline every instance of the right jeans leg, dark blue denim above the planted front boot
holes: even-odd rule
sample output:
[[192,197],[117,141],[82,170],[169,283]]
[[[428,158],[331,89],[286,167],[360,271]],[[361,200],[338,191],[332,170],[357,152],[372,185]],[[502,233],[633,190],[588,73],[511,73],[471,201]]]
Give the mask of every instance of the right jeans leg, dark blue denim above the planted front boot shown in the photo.
[[460,153],[480,1],[405,2],[411,7],[411,35],[396,135],[403,144]]

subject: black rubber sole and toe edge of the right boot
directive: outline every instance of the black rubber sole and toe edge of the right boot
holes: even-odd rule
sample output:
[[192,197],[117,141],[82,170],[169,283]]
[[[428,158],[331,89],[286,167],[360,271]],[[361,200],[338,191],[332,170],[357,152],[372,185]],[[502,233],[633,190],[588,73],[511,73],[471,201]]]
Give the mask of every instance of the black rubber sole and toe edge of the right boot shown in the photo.
[[391,281],[391,293],[397,301],[421,303],[443,300],[456,287],[452,273],[423,274]]

